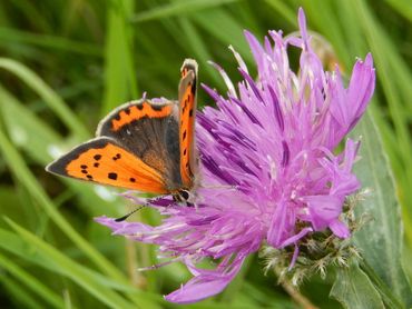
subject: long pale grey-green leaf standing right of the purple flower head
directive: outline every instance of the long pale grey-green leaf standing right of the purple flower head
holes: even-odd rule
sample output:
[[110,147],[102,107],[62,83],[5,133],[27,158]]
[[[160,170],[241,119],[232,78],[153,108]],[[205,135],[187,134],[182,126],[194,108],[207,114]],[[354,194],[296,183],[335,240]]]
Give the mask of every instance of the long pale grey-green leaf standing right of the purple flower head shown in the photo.
[[354,167],[363,188],[372,195],[357,207],[356,216],[369,213],[373,221],[354,235],[355,245],[379,278],[404,306],[412,305],[412,292],[401,265],[402,220],[392,172],[382,148],[381,137],[370,113],[356,126],[352,137],[362,137],[361,161]]

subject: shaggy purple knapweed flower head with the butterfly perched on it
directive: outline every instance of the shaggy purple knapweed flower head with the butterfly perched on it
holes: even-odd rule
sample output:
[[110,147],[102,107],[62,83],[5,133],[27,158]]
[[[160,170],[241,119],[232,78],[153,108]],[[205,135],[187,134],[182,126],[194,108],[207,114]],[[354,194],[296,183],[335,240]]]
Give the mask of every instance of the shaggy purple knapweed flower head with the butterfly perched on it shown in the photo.
[[[351,171],[360,144],[347,139],[341,153],[334,150],[373,93],[372,57],[356,61],[345,88],[337,66],[325,72],[312,50],[302,9],[298,23],[300,34],[269,31],[263,44],[245,31],[257,77],[232,49],[243,77],[237,89],[214,64],[228,91],[220,96],[203,86],[217,108],[206,107],[197,119],[202,183],[195,207],[161,207],[167,199],[156,200],[153,207],[165,216],[156,227],[97,219],[117,235],[158,245],[160,257],[187,266],[193,278],[166,296],[169,301],[220,292],[262,245],[292,248],[292,267],[307,235],[351,235],[340,216],[345,199],[360,189]],[[290,67],[290,47],[301,49],[297,72]],[[215,267],[200,268],[207,258]]]

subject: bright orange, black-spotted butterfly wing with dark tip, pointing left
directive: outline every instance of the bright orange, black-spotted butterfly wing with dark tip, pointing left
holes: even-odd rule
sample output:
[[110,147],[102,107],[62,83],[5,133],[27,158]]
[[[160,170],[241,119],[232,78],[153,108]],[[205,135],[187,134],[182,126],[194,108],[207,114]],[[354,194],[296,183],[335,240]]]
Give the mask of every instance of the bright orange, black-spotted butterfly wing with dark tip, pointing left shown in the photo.
[[151,193],[166,193],[164,176],[106,137],[85,142],[51,162],[47,171]]

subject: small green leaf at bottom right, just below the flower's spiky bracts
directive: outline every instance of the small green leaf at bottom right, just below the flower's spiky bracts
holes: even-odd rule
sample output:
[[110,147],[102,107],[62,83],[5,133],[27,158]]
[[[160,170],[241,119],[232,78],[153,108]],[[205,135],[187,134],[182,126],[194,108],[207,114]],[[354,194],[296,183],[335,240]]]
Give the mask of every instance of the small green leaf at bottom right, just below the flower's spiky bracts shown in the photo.
[[330,296],[337,299],[344,308],[385,308],[371,280],[355,263],[337,269]]

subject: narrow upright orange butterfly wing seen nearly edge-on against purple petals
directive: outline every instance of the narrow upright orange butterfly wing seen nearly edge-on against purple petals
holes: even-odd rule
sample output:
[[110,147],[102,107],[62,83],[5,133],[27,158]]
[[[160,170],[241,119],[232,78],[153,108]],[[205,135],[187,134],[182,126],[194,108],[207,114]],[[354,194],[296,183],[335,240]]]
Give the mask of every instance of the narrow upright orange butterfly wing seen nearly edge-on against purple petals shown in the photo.
[[196,169],[195,117],[197,90],[197,62],[186,59],[180,69],[179,83],[179,144],[180,176],[185,188],[193,187]]

